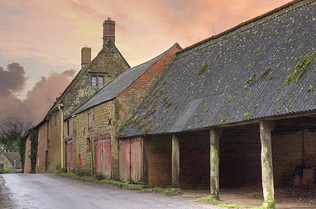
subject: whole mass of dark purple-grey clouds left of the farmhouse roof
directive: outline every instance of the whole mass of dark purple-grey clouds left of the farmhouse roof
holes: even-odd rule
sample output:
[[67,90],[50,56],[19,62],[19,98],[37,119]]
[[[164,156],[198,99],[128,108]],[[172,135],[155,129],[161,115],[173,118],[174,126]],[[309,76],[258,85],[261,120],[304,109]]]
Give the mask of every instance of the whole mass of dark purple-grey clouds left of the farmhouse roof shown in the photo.
[[[13,65],[14,64],[14,65]],[[15,82],[15,85],[11,85],[10,88],[2,88],[0,94],[0,118],[17,117],[17,118],[29,118],[34,124],[43,120],[47,111],[52,107],[53,102],[59,96],[62,91],[68,86],[75,75],[76,70],[66,70],[64,72],[52,72],[49,77],[41,77],[41,80],[37,82],[31,91],[27,92],[27,98],[20,100],[13,95],[13,92],[22,90],[20,83],[25,82],[25,72],[23,67],[19,63],[13,63],[8,65],[8,72],[10,76],[15,75],[20,82]],[[22,71],[21,71],[22,69]],[[5,75],[7,79],[8,72],[0,69],[0,80],[2,81],[2,75]],[[20,72],[16,73],[16,72]],[[23,72],[23,73],[22,73]],[[18,77],[17,75],[23,75]]]

